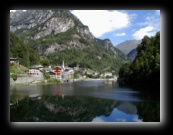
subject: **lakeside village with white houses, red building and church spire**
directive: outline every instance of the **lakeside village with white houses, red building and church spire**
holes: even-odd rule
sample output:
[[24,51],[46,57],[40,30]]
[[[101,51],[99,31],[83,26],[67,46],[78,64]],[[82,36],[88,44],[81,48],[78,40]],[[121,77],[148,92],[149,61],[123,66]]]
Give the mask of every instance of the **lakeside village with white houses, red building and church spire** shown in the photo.
[[[19,64],[19,60],[17,58],[10,58],[10,63],[13,63],[15,65]],[[54,67],[51,67],[51,65],[47,67],[43,67],[42,65],[34,65],[28,68],[25,76],[17,77],[16,80],[13,80],[10,77],[10,84],[15,83],[39,83],[40,81],[43,81],[47,83],[47,80],[44,78],[45,74],[49,76],[49,78],[59,80],[60,82],[72,82],[77,80],[86,80],[91,78],[97,78],[97,79],[105,79],[105,78],[111,78],[113,80],[116,80],[117,77],[113,75],[113,72],[105,72],[100,74],[96,70],[81,68],[81,67],[68,67],[65,66],[64,60],[62,60],[62,65],[57,65]],[[10,73],[12,74],[12,73]]]

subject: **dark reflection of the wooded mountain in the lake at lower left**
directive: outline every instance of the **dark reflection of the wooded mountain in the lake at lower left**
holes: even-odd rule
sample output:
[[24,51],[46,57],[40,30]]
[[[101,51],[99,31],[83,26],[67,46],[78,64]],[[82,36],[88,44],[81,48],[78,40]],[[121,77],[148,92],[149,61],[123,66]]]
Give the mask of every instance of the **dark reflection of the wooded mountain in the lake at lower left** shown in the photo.
[[10,121],[90,122],[99,115],[110,115],[115,101],[81,96],[47,96],[40,100],[26,97],[10,110]]

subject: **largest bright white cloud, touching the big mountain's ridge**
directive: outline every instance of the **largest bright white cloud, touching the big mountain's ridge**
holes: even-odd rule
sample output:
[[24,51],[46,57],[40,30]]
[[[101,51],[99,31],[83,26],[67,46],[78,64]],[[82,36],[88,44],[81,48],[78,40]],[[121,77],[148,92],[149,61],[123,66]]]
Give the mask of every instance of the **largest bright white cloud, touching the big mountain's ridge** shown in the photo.
[[127,27],[130,23],[129,15],[120,11],[73,10],[71,12],[89,27],[95,37]]

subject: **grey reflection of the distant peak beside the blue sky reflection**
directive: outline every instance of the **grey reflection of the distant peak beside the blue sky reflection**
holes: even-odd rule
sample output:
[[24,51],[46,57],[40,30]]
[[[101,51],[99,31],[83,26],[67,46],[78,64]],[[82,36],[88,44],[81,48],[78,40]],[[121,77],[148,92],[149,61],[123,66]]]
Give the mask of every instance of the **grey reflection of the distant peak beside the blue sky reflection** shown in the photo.
[[117,109],[127,114],[137,114],[137,107],[131,102],[123,102]]

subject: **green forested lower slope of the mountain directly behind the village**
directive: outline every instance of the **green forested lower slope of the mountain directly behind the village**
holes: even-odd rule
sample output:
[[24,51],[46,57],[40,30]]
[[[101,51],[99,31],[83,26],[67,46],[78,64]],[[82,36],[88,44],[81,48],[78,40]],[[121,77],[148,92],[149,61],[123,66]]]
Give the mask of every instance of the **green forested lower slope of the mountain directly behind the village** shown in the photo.
[[61,64],[64,59],[66,66],[79,66],[96,69],[100,72],[115,70],[116,74],[118,74],[119,67],[123,64],[120,57],[97,45],[80,50],[74,48],[59,53],[54,52],[49,54],[47,58],[53,65]]

